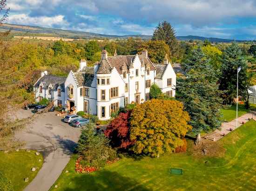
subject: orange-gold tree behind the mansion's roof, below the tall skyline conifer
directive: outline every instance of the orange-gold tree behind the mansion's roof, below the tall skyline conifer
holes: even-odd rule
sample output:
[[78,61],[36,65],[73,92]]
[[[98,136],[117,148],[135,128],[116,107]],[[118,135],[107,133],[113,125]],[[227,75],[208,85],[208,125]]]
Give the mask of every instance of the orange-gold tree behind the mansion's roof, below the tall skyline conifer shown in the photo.
[[166,54],[170,57],[170,48],[163,40],[149,40],[142,43],[139,51],[148,50],[148,57],[153,63],[162,63]]

